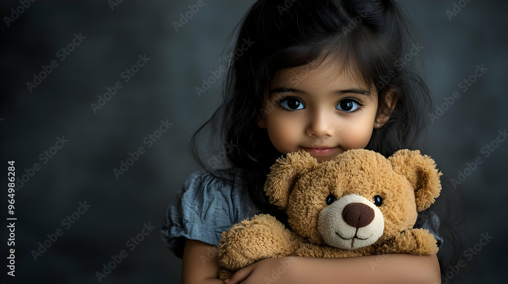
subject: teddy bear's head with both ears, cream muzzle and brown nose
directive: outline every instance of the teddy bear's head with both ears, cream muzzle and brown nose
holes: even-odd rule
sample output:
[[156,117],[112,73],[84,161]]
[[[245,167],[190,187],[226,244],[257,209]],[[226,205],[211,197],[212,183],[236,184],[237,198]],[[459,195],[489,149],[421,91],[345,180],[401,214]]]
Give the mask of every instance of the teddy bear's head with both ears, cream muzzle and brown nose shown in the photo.
[[322,163],[300,150],[277,159],[265,192],[300,236],[353,250],[412,229],[417,213],[439,196],[440,175],[418,150],[388,159],[348,150]]

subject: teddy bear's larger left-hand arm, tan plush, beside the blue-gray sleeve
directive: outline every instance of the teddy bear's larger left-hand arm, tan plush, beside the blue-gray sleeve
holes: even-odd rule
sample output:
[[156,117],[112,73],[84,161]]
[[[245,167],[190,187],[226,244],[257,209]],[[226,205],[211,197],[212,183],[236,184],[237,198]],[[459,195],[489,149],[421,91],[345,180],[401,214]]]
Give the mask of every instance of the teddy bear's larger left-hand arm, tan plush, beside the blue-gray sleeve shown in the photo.
[[301,237],[285,229],[275,217],[256,215],[222,233],[219,265],[236,271],[261,259],[292,256],[299,242]]

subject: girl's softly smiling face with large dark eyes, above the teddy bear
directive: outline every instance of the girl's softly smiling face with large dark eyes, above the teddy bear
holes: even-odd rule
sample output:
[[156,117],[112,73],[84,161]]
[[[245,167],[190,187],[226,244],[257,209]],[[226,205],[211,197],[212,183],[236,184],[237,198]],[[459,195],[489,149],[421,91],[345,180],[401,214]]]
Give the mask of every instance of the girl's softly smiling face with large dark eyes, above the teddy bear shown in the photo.
[[375,122],[377,94],[355,80],[360,76],[347,67],[337,75],[335,65],[323,63],[329,67],[279,70],[272,98],[264,104],[265,117],[257,118],[280,153],[304,149],[320,163],[346,150],[365,148],[374,127],[388,120]]

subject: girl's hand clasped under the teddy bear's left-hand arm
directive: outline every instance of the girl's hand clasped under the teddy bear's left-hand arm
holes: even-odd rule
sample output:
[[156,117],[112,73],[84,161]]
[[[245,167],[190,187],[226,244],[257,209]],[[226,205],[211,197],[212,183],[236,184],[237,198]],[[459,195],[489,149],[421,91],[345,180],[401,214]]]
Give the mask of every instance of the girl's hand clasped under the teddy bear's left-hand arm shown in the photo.
[[274,283],[277,284],[297,284],[296,264],[302,258],[298,257],[282,257],[267,258],[247,265],[239,269],[231,278],[226,279],[227,284],[260,284]]

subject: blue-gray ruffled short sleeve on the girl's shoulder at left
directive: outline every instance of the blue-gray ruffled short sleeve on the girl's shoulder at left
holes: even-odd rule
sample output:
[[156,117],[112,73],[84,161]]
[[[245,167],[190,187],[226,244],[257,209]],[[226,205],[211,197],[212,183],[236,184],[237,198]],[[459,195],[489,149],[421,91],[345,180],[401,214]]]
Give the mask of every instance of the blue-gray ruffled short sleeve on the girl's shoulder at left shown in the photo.
[[220,234],[235,223],[232,186],[205,170],[190,174],[166,210],[160,235],[183,258],[185,239],[218,245]]

